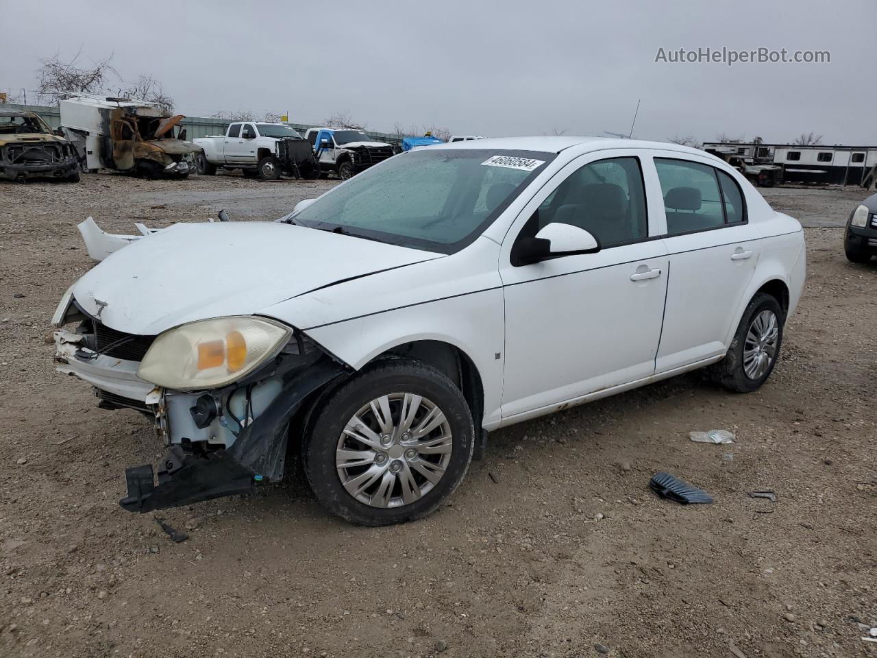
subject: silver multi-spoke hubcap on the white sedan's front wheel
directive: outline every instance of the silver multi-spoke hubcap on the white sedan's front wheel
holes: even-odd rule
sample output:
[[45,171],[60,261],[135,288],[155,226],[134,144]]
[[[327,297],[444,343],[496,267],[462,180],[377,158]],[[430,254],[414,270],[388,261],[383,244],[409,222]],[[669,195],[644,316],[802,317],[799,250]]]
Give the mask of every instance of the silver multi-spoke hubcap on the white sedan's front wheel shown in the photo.
[[401,507],[439,483],[452,451],[451,426],[436,404],[413,393],[390,393],[347,420],[335,448],[335,468],[360,503]]

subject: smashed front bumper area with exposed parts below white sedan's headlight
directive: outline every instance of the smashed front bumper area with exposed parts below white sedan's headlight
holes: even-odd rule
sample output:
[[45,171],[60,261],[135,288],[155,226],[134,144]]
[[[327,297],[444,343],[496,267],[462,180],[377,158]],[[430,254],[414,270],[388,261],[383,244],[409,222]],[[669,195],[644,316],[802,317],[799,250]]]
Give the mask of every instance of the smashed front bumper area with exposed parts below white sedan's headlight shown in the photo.
[[[270,363],[221,390],[165,390],[137,376],[139,361],[97,347],[100,323],[54,333],[56,368],[95,387],[105,409],[135,409],[154,420],[169,449],[158,468],[125,471],[129,511],[153,511],[246,493],[284,473],[290,421],[304,400],[349,371],[295,334]],[[91,331],[89,331],[91,330]],[[92,333],[93,331],[93,333]]]

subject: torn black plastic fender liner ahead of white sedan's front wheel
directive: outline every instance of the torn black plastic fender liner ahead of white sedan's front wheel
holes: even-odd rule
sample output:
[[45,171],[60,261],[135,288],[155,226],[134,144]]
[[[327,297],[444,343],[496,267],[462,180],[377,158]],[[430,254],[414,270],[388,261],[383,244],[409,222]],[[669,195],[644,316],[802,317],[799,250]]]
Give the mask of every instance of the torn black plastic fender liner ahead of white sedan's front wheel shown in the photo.
[[349,374],[349,368],[322,359],[292,375],[274,402],[239,434],[232,447],[205,455],[171,447],[161,461],[158,485],[151,464],[125,470],[128,495],[119,501],[128,511],[153,511],[233,496],[253,490],[255,482],[280,480],[286,462],[289,421],[304,399]]

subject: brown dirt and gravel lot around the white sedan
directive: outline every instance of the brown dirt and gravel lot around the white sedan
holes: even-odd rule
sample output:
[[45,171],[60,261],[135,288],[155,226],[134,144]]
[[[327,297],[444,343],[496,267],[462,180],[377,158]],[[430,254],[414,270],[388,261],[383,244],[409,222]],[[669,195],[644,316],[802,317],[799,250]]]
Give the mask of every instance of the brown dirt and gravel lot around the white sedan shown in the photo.
[[[758,393],[687,375],[491,434],[453,504],[407,526],[346,525],[295,482],[164,512],[180,544],[123,511],[125,468],[164,451],[53,371],[49,318],[91,267],[75,224],[276,218],[329,184],[0,187],[0,655],[877,656],[877,264],[818,227],[855,189],[766,194],[813,227]],[[735,443],[688,440],[714,427]],[[716,503],[653,497],[657,470]]]

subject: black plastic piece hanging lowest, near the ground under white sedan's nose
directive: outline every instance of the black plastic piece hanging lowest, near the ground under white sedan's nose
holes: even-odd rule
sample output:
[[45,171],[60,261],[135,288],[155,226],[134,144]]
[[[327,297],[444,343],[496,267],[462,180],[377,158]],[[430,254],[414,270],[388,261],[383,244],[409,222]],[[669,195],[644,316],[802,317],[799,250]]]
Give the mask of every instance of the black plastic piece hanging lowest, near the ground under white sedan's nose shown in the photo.
[[175,446],[161,465],[158,486],[153,478],[152,464],[127,468],[128,495],[119,504],[128,511],[163,510],[248,493],[261,479],[224,450],[200,457],[186,454],[181,447]]

